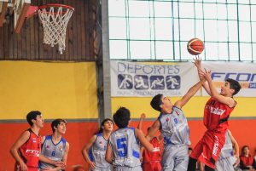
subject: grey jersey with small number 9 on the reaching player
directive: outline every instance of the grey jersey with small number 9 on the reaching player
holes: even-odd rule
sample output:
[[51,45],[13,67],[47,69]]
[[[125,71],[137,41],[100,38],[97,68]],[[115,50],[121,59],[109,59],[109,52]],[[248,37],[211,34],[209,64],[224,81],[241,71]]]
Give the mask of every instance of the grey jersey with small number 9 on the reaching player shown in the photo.
[[173,106],[172,113],[161,113],[158,120],[164,145],[190,145],[189,125],[181,109]]

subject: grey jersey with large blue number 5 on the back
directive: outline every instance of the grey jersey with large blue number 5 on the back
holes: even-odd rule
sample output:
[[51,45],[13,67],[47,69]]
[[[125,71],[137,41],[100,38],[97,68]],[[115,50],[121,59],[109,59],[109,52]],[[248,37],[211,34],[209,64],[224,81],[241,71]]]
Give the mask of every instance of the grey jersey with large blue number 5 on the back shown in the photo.
[[135,128],[119,128],[109,137],[113,151],[113,167],[140,167],[140,145]]

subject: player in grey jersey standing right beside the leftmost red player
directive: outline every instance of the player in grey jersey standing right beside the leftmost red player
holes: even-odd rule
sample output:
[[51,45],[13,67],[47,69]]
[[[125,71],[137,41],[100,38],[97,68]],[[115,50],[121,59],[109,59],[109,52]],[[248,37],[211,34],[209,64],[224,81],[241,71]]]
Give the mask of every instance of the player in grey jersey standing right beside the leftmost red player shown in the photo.
[[[51,129],[53,134],[42,137],[42,151],[39,157],[38,170],[44,170],[46,168],[55,168],[54,170],[65,169],[67,162],[67,154],[69,150],[69,144],[62,136],[66,133],[67,122],[63,119],[55,119],[51,123]],[[64,166],[56,167],[53,164],[42,161],[42,157],[47,157],[55,162],[63,162]]]

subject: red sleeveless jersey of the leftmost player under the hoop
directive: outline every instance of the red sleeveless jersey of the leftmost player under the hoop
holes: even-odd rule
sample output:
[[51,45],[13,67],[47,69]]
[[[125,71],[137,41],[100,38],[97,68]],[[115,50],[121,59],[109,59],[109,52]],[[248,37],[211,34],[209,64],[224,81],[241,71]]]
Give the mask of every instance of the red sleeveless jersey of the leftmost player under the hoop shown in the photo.
[[39,154],[41,152],[41,137],[35,134],[31,128],[27,129],[30,132],[30,137],[20,146],[20,157],[27,167],[38,168]]

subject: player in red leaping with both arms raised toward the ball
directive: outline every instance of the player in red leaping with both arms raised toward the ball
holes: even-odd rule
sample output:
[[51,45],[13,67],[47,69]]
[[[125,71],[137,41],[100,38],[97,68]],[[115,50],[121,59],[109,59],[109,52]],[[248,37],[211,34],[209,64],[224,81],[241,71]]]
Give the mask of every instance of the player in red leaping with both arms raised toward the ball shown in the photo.
[[221,92],[218,94],[217,89],[212,83],[211,71],[201,70],[201,60],[196,58],[194,62],[200,79],[207,79],[203,84],[207,93],[211,95],[207,101],[204,110],[204,125],[207,131],[201,140],[195,145],[194,151],[189,157],[188,171],[195,171],[197,160],[205,163],[206,171],[213,171],[215,162],[218,161],[219,153],[225,143],[225,133],[228,128],[228,119],[231,111],[236,106],[236,100],[233,95],[241,89],[241,85],[233,79],[226,79]]

